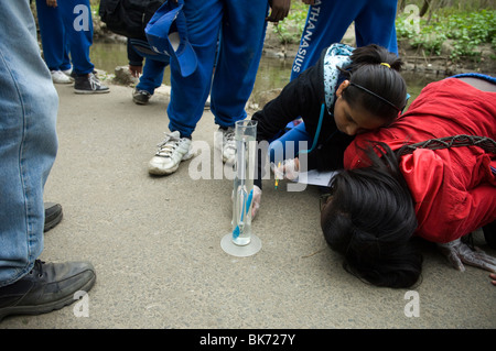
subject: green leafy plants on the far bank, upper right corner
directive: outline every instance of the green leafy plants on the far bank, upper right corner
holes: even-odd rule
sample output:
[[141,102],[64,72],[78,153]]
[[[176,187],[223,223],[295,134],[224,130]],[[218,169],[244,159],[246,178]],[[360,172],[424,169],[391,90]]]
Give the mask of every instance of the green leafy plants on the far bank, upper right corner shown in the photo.
[[496,48],[496,11],[461,12],[441,9],[430,19],[400,13],[396,21],[399,40],[408,40],[413,47],[440,55],[442,44],[451,40],[451,58],[478,57],[477,47],[490,44]]

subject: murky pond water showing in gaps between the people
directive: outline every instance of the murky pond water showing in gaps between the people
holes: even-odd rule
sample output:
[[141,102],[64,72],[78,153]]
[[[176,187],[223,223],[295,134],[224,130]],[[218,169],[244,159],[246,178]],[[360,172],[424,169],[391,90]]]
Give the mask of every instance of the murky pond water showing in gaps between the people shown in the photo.
[[[90,50],[91,62],[96,68],[114,74],[117,66],[128,65],[127,46],[122,43],[95,42]],[[280,59],[262,56],[255,81],[254,95],[260,91],[282,88],[289,83],[291,74],[292,58]],[[411,102],[420,90],[429,83],[443,79],[444,76],[423,75],[419,73],[402,73],[407,81],[408,92],[411,95]],[[166,68],[164,84],[170,85],[170,70]]]

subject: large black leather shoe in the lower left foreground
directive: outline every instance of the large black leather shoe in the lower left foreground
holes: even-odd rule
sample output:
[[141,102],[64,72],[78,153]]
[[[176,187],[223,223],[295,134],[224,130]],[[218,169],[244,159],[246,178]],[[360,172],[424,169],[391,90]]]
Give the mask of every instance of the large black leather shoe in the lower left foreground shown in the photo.
[[0,287],[0,321],[11,315],[41,315],[71,305],[96,281],[89,262],[44,263],[18,282]]

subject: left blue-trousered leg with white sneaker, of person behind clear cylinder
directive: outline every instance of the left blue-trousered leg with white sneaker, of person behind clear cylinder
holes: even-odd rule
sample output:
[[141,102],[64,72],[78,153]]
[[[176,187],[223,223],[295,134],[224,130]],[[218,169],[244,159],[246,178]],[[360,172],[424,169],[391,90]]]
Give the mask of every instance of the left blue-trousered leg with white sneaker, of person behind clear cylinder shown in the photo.
[[191,135],[203,116],[214,73],[223,1],[190,0],[183,11],[187,21],[187,36],[196,57],[196,70],[187,77],[171,62],[171,100],[168,106],[169,130],[159,150],[149,162],[148,172],[168,175],[182,161],[193,156]]

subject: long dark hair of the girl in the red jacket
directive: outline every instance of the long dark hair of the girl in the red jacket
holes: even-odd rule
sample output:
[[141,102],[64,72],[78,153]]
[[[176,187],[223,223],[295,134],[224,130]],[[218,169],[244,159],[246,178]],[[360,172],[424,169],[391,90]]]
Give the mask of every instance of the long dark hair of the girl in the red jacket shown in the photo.
[[417,229],[412,197],[389,146],[377,143],[367,155],[369,167],[343,171],[332,179],[332,200],[321,215],[324,238],[344,255],[346,271],[362,279],[411,287],[422,267],[410,240]]

